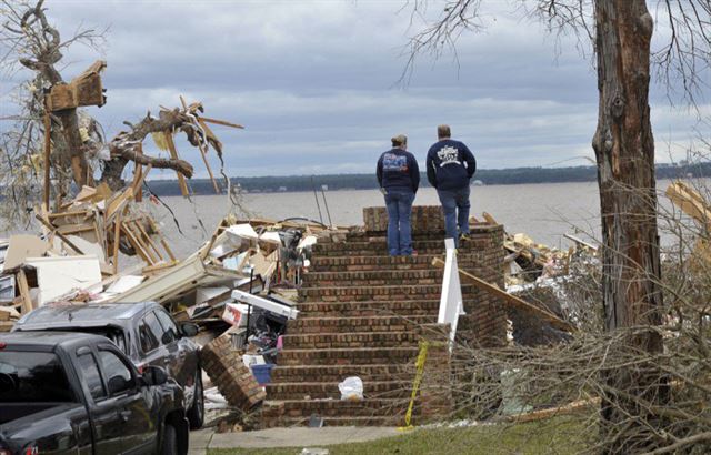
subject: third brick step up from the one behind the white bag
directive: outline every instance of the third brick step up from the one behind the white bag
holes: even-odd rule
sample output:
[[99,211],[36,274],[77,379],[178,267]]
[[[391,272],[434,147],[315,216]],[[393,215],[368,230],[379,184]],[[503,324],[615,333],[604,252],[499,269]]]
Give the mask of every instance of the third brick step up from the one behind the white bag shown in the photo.
[[[437,325],[434,325],[437,326]],[[284,348],[324,347],[397,347],[417,346],[422,340],[418,332],[314,333],[284,335]]]

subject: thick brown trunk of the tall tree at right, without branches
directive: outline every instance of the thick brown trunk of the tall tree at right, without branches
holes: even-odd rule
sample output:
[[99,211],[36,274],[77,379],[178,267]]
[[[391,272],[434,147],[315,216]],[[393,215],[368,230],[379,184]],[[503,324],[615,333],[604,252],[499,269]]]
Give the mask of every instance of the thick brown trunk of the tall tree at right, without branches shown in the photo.
[[[595,24],[600,105],[592,145],[602,215],[605,326],[659,325],[661,266],[649,108],[653,21],[645,0],[597,0]],[[662,350],[661,336],[650,330],[635,331],[625,342],[645,353]],[[653,417],[630,397],[663,400],[660,376],[650,365],[603,374],[604,452],[637,453],[654,445],[641,425]]]

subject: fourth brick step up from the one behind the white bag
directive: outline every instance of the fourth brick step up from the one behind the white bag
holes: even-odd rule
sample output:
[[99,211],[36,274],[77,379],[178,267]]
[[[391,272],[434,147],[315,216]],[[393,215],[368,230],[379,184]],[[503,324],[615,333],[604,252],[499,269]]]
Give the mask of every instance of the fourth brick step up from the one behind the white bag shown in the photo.
[[299,317],[287,323],[287,334],[307,335],[320,333],[405,332],[424,324],[437,323],[437,315],[424,316],[351,316]]

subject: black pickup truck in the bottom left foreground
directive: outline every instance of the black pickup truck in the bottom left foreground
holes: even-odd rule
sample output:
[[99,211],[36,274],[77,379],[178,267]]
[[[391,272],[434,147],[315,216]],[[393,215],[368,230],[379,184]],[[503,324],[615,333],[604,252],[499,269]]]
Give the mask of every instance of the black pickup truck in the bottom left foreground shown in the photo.
[[86,333],[0,335],[0,455],[186,454],[182,388]]

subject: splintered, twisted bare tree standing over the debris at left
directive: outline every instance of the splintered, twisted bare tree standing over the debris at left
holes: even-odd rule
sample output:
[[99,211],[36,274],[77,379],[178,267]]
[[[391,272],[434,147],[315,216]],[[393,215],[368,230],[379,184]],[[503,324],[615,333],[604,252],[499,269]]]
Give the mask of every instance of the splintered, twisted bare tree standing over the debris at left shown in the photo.
[[[59,30],[47,18],[43,0],[36,4],[2,0],[0,9],[7,18],[0,32],[6,71],[17,73],[19,64],[34,73],[32,80],[19,89],[19,113],[3,119],[4,122],[14,120],[13,128],[7,129],[0,143],[1,184],[4,195],[14,202],[8,206],[14,213],[4,213],[6,218],[22,218],[22,212],[38,202],[37,195],[41,192],[37,189],[42,175],[50,176],[50,170],[57,183],[53,190],[58,201],[68,195],[72,183],[81,189],[106,182],[110,190],[121,189],[129,163],[139,172],[143,165],[174,170],[183,195],[188,195],[183,179],[192,176],[193,168],[174,151],[172,135],[178,132],[184,133],[190,144],[200,150],[212,178],[206,154],[211,146],[222,160],[222,144],[206,123],[240,125],[202,117],[200,103],[188,105],[181,99],[180,108],[161,107],[158,117],[148,112],[136,123],[126,121],[126,131],[106,140],[101,125],[81,109],[104,103],[100,74],[106,62],[97,61],[69,82],[59,71],[62,52],[68,47],[76,42],[96,44],[101,33],[84,30],[62,41]],[[51,141],[44,141],[48,129]],[[144,154],[142,143],[148,135],[163,143],[171,152],[170,158]],[[213,185],[219,191],[214,180]],[[44,200],[49,200],[47,194]]]

